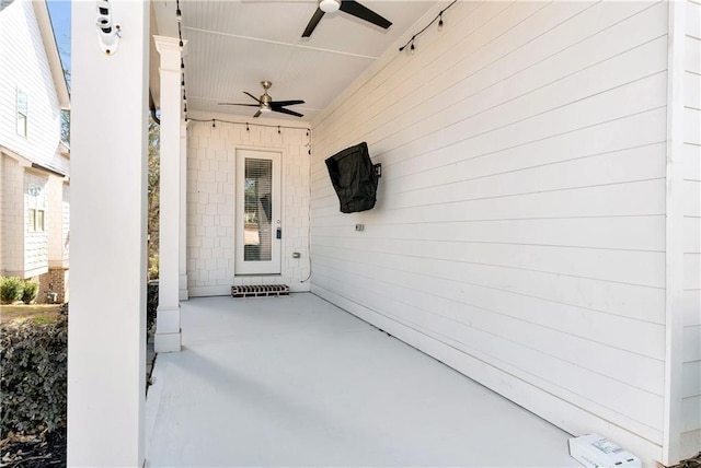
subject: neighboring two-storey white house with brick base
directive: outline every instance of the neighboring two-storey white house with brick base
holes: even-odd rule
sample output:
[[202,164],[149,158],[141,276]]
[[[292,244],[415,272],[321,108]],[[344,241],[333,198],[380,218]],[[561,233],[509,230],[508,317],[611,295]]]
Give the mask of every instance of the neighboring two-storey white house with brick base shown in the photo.
[[45,1],[0,12],[0,276],[68,300],[69,94]]

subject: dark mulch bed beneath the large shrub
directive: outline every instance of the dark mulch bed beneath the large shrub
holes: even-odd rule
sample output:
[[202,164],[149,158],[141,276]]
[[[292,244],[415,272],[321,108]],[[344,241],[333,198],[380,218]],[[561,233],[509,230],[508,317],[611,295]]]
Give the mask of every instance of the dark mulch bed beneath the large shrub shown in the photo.
[[66,467],[66,428],[0,441],[0,468]]

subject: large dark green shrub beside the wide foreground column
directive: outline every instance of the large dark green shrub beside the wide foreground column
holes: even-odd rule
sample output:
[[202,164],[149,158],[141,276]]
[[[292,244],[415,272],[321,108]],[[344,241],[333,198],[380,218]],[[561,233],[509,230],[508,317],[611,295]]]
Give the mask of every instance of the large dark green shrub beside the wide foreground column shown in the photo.
[[49,432],[67,419],[68,316],[0,325],[0,438],[10,431]]

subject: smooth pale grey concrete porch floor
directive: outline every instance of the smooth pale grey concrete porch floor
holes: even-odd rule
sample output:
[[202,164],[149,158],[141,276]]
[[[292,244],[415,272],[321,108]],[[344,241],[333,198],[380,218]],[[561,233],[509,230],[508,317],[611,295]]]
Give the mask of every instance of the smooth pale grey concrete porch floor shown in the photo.
[[310,294],[193,299],[148,467],[578,467],[567,433]]

